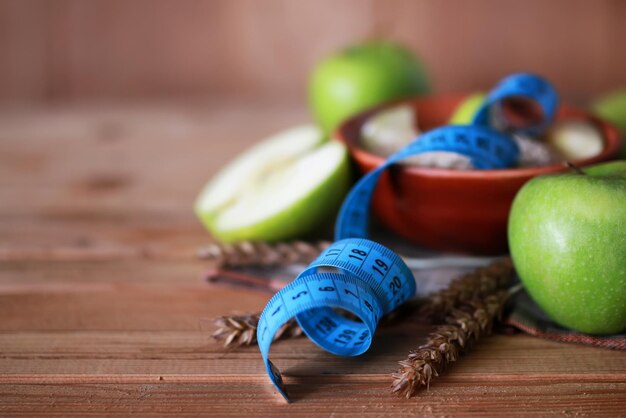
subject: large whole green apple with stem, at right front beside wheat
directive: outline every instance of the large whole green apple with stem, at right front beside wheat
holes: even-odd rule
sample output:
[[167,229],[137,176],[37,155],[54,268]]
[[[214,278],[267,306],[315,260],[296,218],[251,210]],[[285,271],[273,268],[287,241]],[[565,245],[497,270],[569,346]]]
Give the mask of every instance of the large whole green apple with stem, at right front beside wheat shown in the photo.
[[508,234],[520,279],[555,322],[590,334],[626,329],[626,161],[532,179]]

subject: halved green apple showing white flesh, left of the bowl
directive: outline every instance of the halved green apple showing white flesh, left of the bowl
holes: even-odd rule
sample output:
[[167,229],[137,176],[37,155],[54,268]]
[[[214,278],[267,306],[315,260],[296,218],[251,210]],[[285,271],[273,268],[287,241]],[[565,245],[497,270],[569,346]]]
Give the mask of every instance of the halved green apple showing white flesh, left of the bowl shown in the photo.
[[222,242],[301,237],[334,216],[350,186],[343,144],[312,125],[254,146],[223,168],[195,202],[195,212]]

